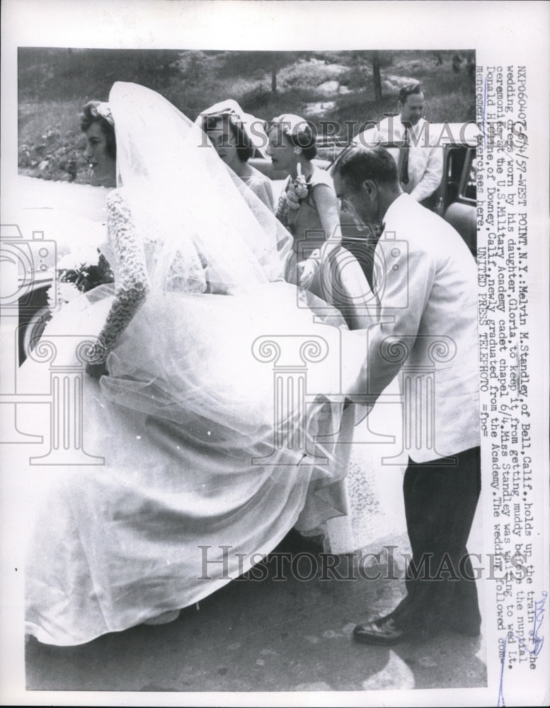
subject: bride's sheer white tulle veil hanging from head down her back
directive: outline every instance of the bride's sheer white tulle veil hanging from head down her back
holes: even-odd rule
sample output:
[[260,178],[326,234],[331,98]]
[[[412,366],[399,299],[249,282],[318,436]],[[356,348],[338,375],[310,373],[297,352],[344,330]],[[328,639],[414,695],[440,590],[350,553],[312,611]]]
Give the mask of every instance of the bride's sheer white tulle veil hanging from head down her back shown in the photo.
[[212,289],[243,292],[277,280],[292,240],[270,211],[226,169],[193,124],[159,94],[116,83],[109,95],[118,182],[134,220],[157,241],[154,290],[177,276],[182,241],[207,263]]

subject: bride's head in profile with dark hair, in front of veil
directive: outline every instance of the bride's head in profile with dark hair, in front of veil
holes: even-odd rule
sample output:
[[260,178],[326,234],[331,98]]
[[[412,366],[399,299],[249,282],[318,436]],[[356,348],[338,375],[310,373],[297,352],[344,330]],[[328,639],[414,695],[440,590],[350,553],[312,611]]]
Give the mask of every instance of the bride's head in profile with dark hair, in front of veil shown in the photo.
[[105,106],[107,104],[101,101],[88,101],[82,109],[80,129],[86,135],[84,159],[94,182],[103,187],[114,187],[117,143],[113,116]]

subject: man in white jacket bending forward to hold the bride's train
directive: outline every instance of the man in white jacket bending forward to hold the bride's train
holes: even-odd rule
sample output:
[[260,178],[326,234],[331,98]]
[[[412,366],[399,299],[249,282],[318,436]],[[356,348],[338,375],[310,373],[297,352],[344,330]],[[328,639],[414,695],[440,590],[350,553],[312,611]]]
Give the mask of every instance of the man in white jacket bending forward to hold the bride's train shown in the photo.
[[407,595],[354,635],[369,644],[442,629],[476,636],[481,615],[466,551],[480,491],[476,262],[447,222],[403,193],[383,147],[349,149],[333,177],[357,224],[382,224],[371,278],[379,314],[354,390],[374,401],[399,375],[409,458]]

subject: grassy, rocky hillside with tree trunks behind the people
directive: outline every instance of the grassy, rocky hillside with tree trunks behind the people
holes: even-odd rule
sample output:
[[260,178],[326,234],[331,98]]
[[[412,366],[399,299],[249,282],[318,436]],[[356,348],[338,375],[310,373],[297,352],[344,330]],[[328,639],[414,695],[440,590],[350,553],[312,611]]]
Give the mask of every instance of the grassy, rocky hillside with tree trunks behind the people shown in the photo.
[[[87,182],[79,112],[92,98],[106,100],[114,81],[149,86],[193,119],[212,103],[234,98],[265,120],[298,113],[314,122],[319,132],[323,121],[336,121],[340,137],[347,139],[365,120],[396,112],[399,86],[406,79],[423,81],[428,120],[475,120],[472,57],[472,52],[379,52],[382,101],[377,101],[372,52],[366,51],[21,48],[19,169],[46,179]],[[355,130],[345,125],[351,121]]]

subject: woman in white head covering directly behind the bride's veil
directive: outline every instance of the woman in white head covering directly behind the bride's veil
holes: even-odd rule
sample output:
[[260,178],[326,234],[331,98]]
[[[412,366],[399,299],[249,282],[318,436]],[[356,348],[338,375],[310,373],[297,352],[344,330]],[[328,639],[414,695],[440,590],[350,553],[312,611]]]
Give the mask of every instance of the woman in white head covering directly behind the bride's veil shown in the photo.
[[266,207],[275,211],[271,181],[248,164],[255,150],[258,149],[261,154],[268,143],[261,122],[244,113],[233,100],[216,103],[203,111],[199,121],[224,163]]

